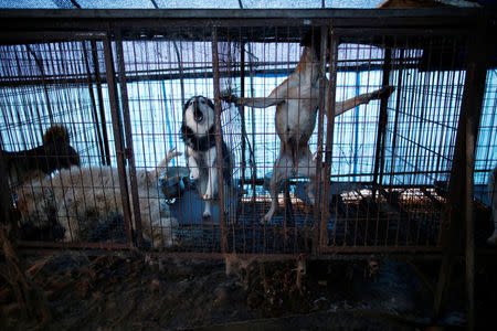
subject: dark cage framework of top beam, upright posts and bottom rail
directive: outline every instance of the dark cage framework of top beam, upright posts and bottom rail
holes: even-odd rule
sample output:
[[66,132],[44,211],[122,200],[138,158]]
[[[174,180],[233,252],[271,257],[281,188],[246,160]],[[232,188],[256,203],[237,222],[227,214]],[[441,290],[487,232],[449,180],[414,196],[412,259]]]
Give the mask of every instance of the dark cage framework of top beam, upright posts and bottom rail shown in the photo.
[[[314,245],[316,248],[310,257],[318,259],[355,259],[364,258],[370,254],[388,255],[391,257],[406,258],[406,259],[436,259],[441,260],[441,270],[438,282],[435,292],[435,316],[440,314],[442,298],[444,289],[448,282],[448,275],[451,273],[451,264],[454,259],[464,258],[466,266],[466,276],[468,278],[467,293],[469,299],[469,323],[474,323],[474,278],[475,278],[475,255],[488,254],[494,255],[495,252],[476,250],[474,238],[474,216],[472,214],[473,201],[473,175],[474,175],[474,158],[476,137],[479,126],[479,117],[482,111],[482,103],[485,92],[485,76],[488,63],[488,52],[479,52],[489,47],[485,43],[484,35],[486,29],[495,31],[496,11],[482,9],[381,9],[381,10],[0,10],[0,43],[1,44],[21,44],[21,43],[44,43],[50,41],[99,41],[104,43],[105,60],[106,60],[106,79],[109,88],[109,102],[112,105],[113,125],[115,135],[115,148],[118,158],[117,167],[119,170],[119,186],[127,192],[131,191],[131,202],[128,201],[127,194],[123,195],[123,204],[126,217],[126,235],[129,244],[118,245],[113,244],[112,247],[105,244],[67,244],[67,243],[20,243],[24,246],[27,252],[36,253],[57,252],[56,248],[72,248],[72,249],[93,249],[94,253],[110,254],[112,249],[129,250],[133,248],[130,215],[131,204],[135,207],[135,220],[139,220],[139,212],[137,212],[138,195],[136,188],[136,169],[134,162],[134,150],[131,142],[131,127],[129,124],[128,100],[126,93],[126,76],[123,63],[123,46],[121,42],[126,40],[140,40],[140,35],[160,34],[173,29],[175,26],[192,26],[192,29],[204,29],[212,36],[213,50],[218,50],[216,43],[223,40],[224,35],[219,35],[219,29],[230,29],[237,26],[274,26],[274,29],[285,26],[318,26],[321,30],[321,42],[326,44],[326,36],[328,33],[332,35],[331,43],[328,45],[332,50],[338,45],[338,39],[349,35],[360,35],[361,33],[372,33],[378,35],[396,34],[396,35],[412,35],[412,34],[445,34],[458,35],[464,38],[474,38],[472,52],[468,54],[469,63],[467,76],[465,78],[465,87],[463,95],[463,104],[461,114],[468,114],[468,116],[459,116],[457,136],[456,136],[456,153],[454,154],[451,181],[450,181],[450,199],[447,205],[447,217],[445,225],[441,228],[443,239],[436,247],[396,247],[396,246],[348,246],[348,247],[332,247],[326,244],[326,213],[321,214],[319,225],[319,236],[315,238],[318,243]],[[465,25],[461,24],[464,21]],[[210,31],[210,32],[209,32]],[[297,40],[295,35],[295,40]],[[242,40],[248,42],[250,40]],[[117,45],[117,54],[112,54],[110,42]],[[219,63],[216,60],[216,52],[213,54],[213,78],[214,78],[214,104],[216,110],[216,128],[220,129],[220,90],[219,90]],[[242,52],[244,54],[244,52]],[[385,63],[390,56],[385,54]],[[116,56],[116,57],[114,57]],[[114,58],[117,58],[118,67],[114,68]],[[332,71],[334,64],[330,64],[330,95],[328,100],[320,96],[320,105],[328,103],[329,109],[334,108],[335,87],[336,86],[336,70]],[[389,65],[384,65],[388,70]],[[321,70],[326,68],[321,54]],[[109,71],[110,70],[110,71]],[[115,72],[113,72],[115,71]],[[246,74],[245,65],[240,70],[242,75]],[[389,77],[383,73],[383,77]],[[97,75],[95,82],[92,84],[101,84],[101,78]],[[120,97],[118,97],[117,81],[120,83]],[[243,82],[244,79],[242,79]],[[45,84],[46,82],[11,82],[15,84]],[[75,82],[77,83],[77,82]],[[87,83],[80,82],[82,84]],[[124,83],[124,84],[123,84]],[[387,83],[387,81],[384,81]],[[2,83],[3,84],[3,83]],[[6,83],[2,86],[7,86]],[[321,92],[326,86],[320,86]],[[99,98],[102,96],[98,96]],[[385,100],[381,100],[380,106],[380,126],[378,130],[376,162],[374,162],[374,180],[378,185],[381,183],[382,157],[384,157],[384,135],[385,125]],[[120,122],[118,109],[125,114]],[[334,110],[332,110],[334,111]],[[324,130],[324,111],[318,115],[318,130]],[[330,110],[330,114],[331,110]],[[326,170],[330,169],[330,153],[328,142],[332,138],[332,116],[327,125],[327,146],[325,147],[325,164]],[[124,128],[124,131],[121,130]],[[380,129],[381,128],[381,129]],[[467,143],[469,141],[469,143]],[[322,141],[321,141],[322,142]],[[221,136],[216,136],[216,149],[220,151]],[[107,147],[108,148],[108,147]],[[218,156],[221,153],[218,152]],[[103,156],[105,158],[106,156]],[[130,188],[126,183],[125,162],[128,162],[130,169]],[[245,160],[243,161],[245,163]],[[320,162],[318,162],[319,164]],[[320,166],[318,166],[320,167]],[[4,170],[1,169],[0,178],[2,179],[2,191],[6,189]],[[222,183],[222,170],[220,183]],[[325,182],[329,181],[329,171],[325,171]],[[222,188],[222,184],[220,185]],[[325,185],[324,199],[327,201],[328,190]],[[458,192],[466,192],[462,195]],[[4,192],[4,191],[3,191]],[[381,193],[378,193],[381,194]],[[4,195],[4,194],[2,194]],[[221,194],[222,195],[222,194]],[[126,199],[125,199],[126,197]],[[126,200],[126,202],[125,202]],[[8,215],[9,206],[6,202],[2,203],[2,213]],[[326,209],[325,209],[326,210]],[[315,215],[317,215],[317,207]],[[458,211],[458,212],[457,212]],[[221,213],[222,214],[222,213]],[[136,222],[139,224],[139,222]],[[176,252],[160,252],[154,253],[162,257],[183,257],[183,258],[224,258],[226,253],[226,237],[225,237],[225,221],[221,216],[221,232],[222,245],[221,253],[176,253]],[[138,234],[141,234],[139,225],[136,228]],[[458,245],[457,237],[466,233],[464,245]],[[138,236],[141,238],[141,235]],[[138,242],[138,247],[142,243]],[[422,255],[420,255],[422,254]],[[248,256],[257,257],[261,260],[278,260],[278,259],[294,259],[293,254],[253,254]]]

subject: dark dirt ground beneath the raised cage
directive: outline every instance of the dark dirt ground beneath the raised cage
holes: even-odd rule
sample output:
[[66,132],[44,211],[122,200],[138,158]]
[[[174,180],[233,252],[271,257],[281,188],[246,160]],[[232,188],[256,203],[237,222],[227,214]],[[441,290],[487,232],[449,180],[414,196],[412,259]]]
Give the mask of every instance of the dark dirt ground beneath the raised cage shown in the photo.
[[[431,324],[430,286],[411,264],[391,259],[260,264],[230,257],[229,276],[224,260],[138,255],[57,254],[23,257],[21,265],[40,307],[27,314],[2,277],[1,330],[424,330]],[[0,267],[4,275],[4,261]],[[416,268],[427,282],[438,270],[431,264]],[[458,290],[450,289],[442,313],[441,323],[452,328],[465,324]]]

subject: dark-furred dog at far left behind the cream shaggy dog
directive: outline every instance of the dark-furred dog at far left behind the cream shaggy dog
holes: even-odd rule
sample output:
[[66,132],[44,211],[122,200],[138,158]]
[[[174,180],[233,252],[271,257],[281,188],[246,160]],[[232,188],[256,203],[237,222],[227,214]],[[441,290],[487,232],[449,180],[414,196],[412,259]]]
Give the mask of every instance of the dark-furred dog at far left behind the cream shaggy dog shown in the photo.
[[52,126],[43,135],[43,145],[23,151],[0,151],[13,186],[42,179],[55,170],[80,166],[80,154],[70,145],[63,126]]

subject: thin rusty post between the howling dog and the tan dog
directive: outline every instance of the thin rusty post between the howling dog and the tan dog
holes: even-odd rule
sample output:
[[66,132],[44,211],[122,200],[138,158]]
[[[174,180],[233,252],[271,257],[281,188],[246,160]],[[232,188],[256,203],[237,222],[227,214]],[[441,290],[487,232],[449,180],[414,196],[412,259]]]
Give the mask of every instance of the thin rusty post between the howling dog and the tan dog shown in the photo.
[[218,195],[219,195],[219,223],[221,227],[221,253],[226,253],[228,237],[224,221],[224,188],[223,188],[223,154],[221,136],[221,99],[220,99],[220,74],[219,74],[219,54],[218,54],[218,29],[212,31],[212,67],[214,85],[214,108],[215,108],[215,154],[218,158]]

